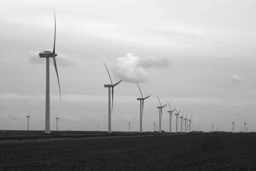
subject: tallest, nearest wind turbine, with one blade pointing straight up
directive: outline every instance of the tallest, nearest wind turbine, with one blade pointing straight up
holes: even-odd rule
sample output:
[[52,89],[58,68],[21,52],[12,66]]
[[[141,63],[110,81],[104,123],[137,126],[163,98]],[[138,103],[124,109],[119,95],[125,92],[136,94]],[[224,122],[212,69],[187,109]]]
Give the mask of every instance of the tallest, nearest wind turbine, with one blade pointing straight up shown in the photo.
[[[39,53],[40,58],[46,58],[46,98],[45,98],[45,134],[50,134],[50,80],[49,80],[49,58],[53,58],[53,63],[55,67],[55,71],[58,78],[58,69],[56,64],[55,57],[58,55],[55,53],[55,37],[56,37],[56,19],[55,19],[55,12],[54,12],[54,21],[55,21],[55,32],[54,32],[54,44],[53,44],[53,50],[51,51],[43,51],[43,53]],[[60,90],[60,102],[61,102],[61,87],[60,87],[60,81],[58,78],[58,85]]]

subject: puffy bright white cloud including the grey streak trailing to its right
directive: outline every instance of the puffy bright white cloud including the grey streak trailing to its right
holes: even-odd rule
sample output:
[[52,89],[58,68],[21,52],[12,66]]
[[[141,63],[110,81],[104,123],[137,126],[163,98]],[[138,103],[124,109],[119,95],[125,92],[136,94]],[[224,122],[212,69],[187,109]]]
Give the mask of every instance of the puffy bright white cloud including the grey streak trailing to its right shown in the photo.
[[122,79],[125,82],[146,82],[145,68],[169,68],[168,58],[145,58],[140,59],[133,53],[127,53],[125,57],[119,57],[117,64],[113,69],[113,76],[116,80]]

